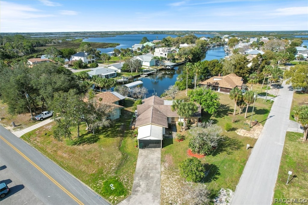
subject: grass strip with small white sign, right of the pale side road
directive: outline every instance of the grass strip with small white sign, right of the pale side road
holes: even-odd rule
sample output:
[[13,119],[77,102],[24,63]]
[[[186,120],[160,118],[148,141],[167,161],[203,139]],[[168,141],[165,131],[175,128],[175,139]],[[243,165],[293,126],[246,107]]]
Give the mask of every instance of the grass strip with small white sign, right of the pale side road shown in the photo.
[[[275,199],[298,199],[298,201],[299,199],[308,199],[308,144],[302,142],[302,137],[302,133],[287,132],[286,134],[273,204],[282,204],[275,203]],[[292,175],[286,185],[288,171],[292,171]],[[278,202],[277,200],[276,202]]]

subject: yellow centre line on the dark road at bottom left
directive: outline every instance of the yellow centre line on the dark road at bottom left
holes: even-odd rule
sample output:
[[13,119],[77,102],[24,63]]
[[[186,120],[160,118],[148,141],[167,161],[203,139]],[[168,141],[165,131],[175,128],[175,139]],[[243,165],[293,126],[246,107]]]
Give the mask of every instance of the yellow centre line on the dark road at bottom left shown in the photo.
[[74,195],[71,194],[71,192],[67,191],[61,184],[59,184],[55,179],[53,179],[50,175],[48,175],[43,169],[41,169],[39,166],[37,166],[34,162],[32,162],[26,155],[24,155],[21,151],[19,151],[16,147],[14,147],[11,143],[9,143],[6,139],[4,139],[0,135],[0,139],[2,139],[4,142],[6,142],[10,147],[12,147],[18,154],[20,154],[23,158],[25,158],[30,164],[32,164],[35,168],[37,168],[40,172],[42,172],[43,175],[45,175],[48,179],[50,179],[55,185],[57,185],[60,189],[62,189],[67,195],[69,195],[75,202],[77,202],[80,205],[83,205],[83,203],[77,199]]

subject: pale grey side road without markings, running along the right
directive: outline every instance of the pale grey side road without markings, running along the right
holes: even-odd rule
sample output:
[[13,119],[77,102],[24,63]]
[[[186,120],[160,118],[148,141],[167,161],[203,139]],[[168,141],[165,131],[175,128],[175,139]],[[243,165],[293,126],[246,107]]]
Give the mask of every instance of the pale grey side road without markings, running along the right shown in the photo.
[[[293,90],[282,84],[270,118],[261,131],[246,163],[231,204],[271,204],[286,131],[289,125]],[[286,177],[288,170],[285,170]]]

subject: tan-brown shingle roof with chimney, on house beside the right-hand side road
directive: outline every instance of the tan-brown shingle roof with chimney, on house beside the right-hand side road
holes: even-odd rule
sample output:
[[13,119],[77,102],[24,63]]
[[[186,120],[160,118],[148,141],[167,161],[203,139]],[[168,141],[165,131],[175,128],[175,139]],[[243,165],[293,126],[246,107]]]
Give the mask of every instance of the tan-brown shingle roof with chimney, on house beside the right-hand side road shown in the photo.
[[[219,78],[219,80],[214,80],[214,78],[216,79]],[[237,76],[236,74],[231,73],[226,76],[221,76],[221,77],[215,76],[215,77],[209,78],[206,81],[200,82],[200,84],[233,89],[236,86],[242,86],[243,80],[241,77]]]

